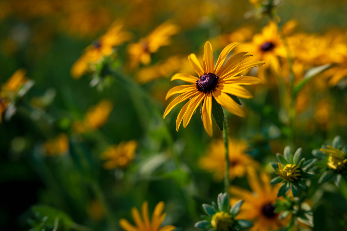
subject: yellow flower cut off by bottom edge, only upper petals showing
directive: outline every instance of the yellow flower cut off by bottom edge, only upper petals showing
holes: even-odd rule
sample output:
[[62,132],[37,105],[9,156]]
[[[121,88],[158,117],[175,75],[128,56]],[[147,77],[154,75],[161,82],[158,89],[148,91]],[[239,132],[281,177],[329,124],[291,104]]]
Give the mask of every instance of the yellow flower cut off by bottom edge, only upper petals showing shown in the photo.
[[119,225],[125,231],[172,231],[176,228],[173,225],[166,225],[160,228],[161,223],[166,217],[166,213],[162,213],[164,210],[164,205],[164,202],[161,201],[155,206],[152,219],[150,221],[148,215],[148,202],[145,201],[142,203],[141,207],[143,219],[141,219],[141,215],[135,207],[133,207],[131,210],[131,214],[136,226],[130,224],[130,222],[124,218],[119,220]]

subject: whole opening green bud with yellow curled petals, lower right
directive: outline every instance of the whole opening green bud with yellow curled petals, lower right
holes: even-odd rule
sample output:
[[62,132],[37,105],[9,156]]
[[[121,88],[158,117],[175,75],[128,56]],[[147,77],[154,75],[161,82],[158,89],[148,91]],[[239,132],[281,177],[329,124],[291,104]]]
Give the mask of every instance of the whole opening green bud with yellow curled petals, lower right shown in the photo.
[[277,171],[277,177],[271,180],[271,184],[282,182],[278,190],[278,196],[285,194],[289,188],[294,196],[298,195],[300,188],[306,189],[303,179],[311,178],[315,174],[306,172],[314,166],[317,159],[301,158],[302,148],[298,148],[295,154],[291,154],[289,146],[285,147],[283,156],[277,153],[279,163],[271,163],[272,167]]

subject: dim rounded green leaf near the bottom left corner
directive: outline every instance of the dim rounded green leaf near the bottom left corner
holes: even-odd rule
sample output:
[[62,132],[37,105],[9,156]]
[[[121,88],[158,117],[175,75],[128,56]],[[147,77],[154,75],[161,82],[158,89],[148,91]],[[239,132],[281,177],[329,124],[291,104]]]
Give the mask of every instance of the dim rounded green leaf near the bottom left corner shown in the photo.
[[46,223],[49,226],[54,226],[55,219],[59,219],[59,223],[61,222],[66,228],[71,228],[74,224],[74,221],[70,218],[70,216],[64,211],[54,209],[48,205],[34,205],[31,209],[40,214],[40,217],[47,217]]

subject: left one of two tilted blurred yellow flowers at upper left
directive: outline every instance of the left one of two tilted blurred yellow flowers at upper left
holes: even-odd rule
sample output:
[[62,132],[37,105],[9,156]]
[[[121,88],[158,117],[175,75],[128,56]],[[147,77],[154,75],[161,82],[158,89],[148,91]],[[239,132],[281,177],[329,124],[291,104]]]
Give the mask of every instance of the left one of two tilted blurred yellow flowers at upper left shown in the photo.
[[103,36],[88,46],[85,49],[85,53],[71,67],[72,77],[80,78],[91,65],[98,62],[102,57],[109,56],[114,47],[128,41],[131,38],[131,34],[123,31],[122,28],[123,24],[114,22]]

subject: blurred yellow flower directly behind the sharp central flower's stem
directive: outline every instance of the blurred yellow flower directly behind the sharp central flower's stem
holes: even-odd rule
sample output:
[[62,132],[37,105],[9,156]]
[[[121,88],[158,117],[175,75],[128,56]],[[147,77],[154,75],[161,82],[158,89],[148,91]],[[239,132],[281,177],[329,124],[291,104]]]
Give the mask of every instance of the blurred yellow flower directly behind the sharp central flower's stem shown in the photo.
[[[250,168],[256,168],[258,163],[245,153],[247,143],[241,140],[229,139],[229,178],[243,177]],[[222,180],[225,173],[225,154],[223,140],[211,142],[207,155],[199,160],[201,168],[214,172],[214,178]]]

